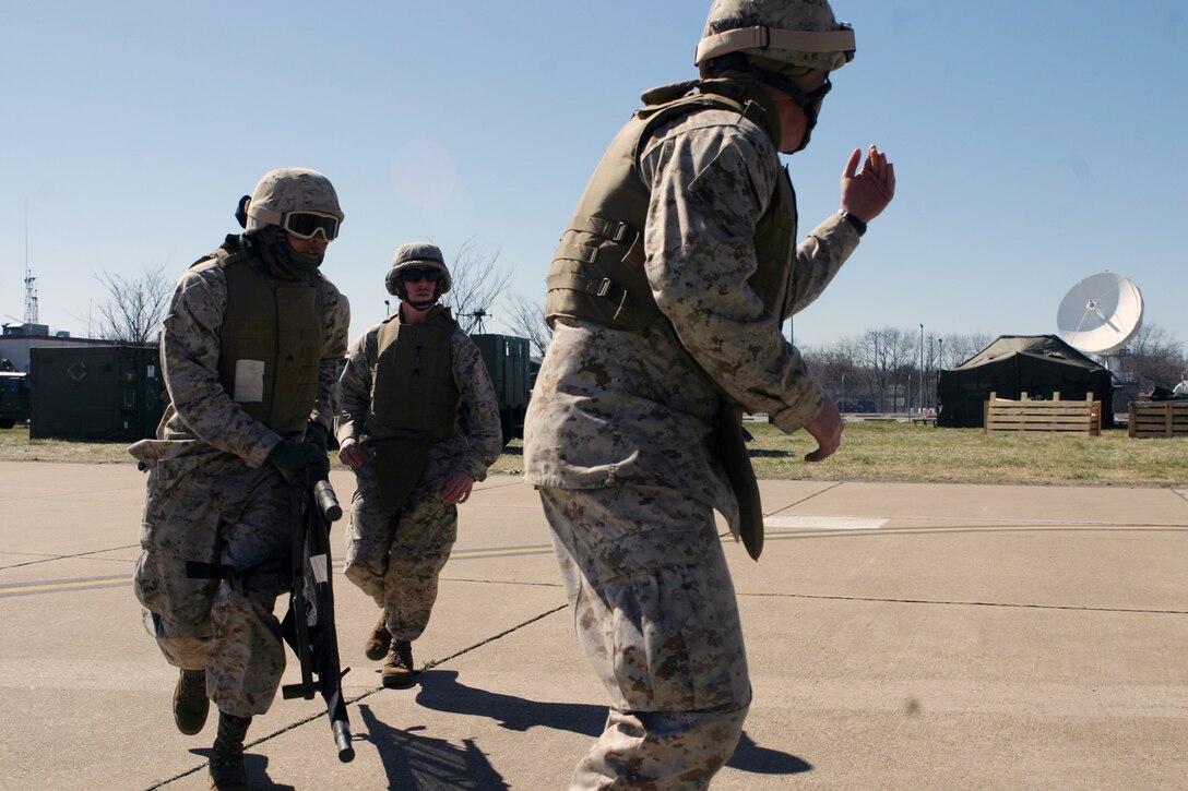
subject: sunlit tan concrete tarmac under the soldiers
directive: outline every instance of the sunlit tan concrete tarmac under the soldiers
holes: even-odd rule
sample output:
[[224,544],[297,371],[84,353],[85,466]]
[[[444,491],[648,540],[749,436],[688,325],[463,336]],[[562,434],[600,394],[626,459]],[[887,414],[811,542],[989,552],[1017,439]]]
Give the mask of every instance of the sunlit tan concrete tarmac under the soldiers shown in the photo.
[[[726,548],[754,702],[715,789],[1188,789],[1188,491],[760,489],[762,561]],[[132,594],[144,475],[0,463],[0,789],[207,789],[215,717],[177,733]],[[431,667],[380,688],[374,606],[336,564],[358,757],[321,701],[278,698],[248,733],[254,787],[565,787],[607,697],[539,502],[497,475],[460,513],[415,644]]]

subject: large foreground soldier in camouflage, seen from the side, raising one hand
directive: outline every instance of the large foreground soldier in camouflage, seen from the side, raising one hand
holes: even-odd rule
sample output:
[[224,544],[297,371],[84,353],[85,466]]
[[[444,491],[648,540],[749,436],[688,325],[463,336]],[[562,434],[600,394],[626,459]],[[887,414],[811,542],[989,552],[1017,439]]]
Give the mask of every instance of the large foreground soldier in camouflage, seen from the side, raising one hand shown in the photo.
[[703,80],[644,94],[562,236],[525,477],[612,698],[574,789],[703,789],[741,734],[751,688],[713,512],[758,556],[742,410],[807,429],[810,460],[840,442],[836,407],[782,324],[886,207],[893,169],[872,146],[859,172],[855,151],[841,211],[796,245],[778,152],[807,143],[829,70],[853,50],[822,0],[718,0]]

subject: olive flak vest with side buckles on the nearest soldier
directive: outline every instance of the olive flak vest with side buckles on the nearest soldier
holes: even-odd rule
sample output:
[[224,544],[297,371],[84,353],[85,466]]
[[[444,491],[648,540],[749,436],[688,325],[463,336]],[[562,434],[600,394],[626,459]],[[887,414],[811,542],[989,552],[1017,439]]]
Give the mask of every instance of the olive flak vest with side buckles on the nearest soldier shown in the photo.
[[[691,93],[690,93],[691,91]],[[656,304],[644,272],[644,229],[651,191],[639,173],[644,146],[664,124],[700,109],[737,114],[779,144],[776,108],[757,84],[707,80],[676,83],[644,95],[636,110],[602,156],[582,194],[549,270],[545,319],[557,316],[596,322],[617,329],[640,330],[664,315]],[[757,268],[747,285],[764,308],[791,316],[796,261],[796,195],[786,169],[777,181],[767,210],[754,229]],[[739,504],[739,536],[752,558],[763,551],[763,506],[754,469],[742,438],[742,410],[725,394],[714,425],[716,456]]]

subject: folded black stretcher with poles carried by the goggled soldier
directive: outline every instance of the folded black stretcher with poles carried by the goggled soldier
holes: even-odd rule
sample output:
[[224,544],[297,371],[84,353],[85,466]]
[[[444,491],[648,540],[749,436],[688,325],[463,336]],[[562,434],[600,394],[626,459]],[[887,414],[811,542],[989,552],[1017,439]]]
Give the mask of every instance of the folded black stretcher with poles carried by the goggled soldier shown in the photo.
[[339,760],[347,762],[355,757],[347,704],[342,700],[342,677],[349,667],[342,670],[339,663],[330,559],[330,523],[342,518],[342,508],[324,470],[307,470],[305,485],[295,483],[289,492],[292,581],[289,613],[280,631],[301,662],[301,683],[286,684],[282,695],[286,700],[312,700],[314,692],[322,694]]

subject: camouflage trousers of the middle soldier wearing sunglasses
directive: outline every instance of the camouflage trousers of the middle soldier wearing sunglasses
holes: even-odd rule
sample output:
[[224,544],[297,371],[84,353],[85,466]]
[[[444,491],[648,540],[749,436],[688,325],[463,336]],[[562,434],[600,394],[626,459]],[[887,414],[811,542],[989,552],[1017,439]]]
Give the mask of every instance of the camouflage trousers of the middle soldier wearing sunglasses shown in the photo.
[[441,499],[430,469],[397,513],[380,505],[369,463],[355,468],[345,574],[387,615],[397,640],[421,637],[437,601],[437,577],[457,538],[457,506]]

